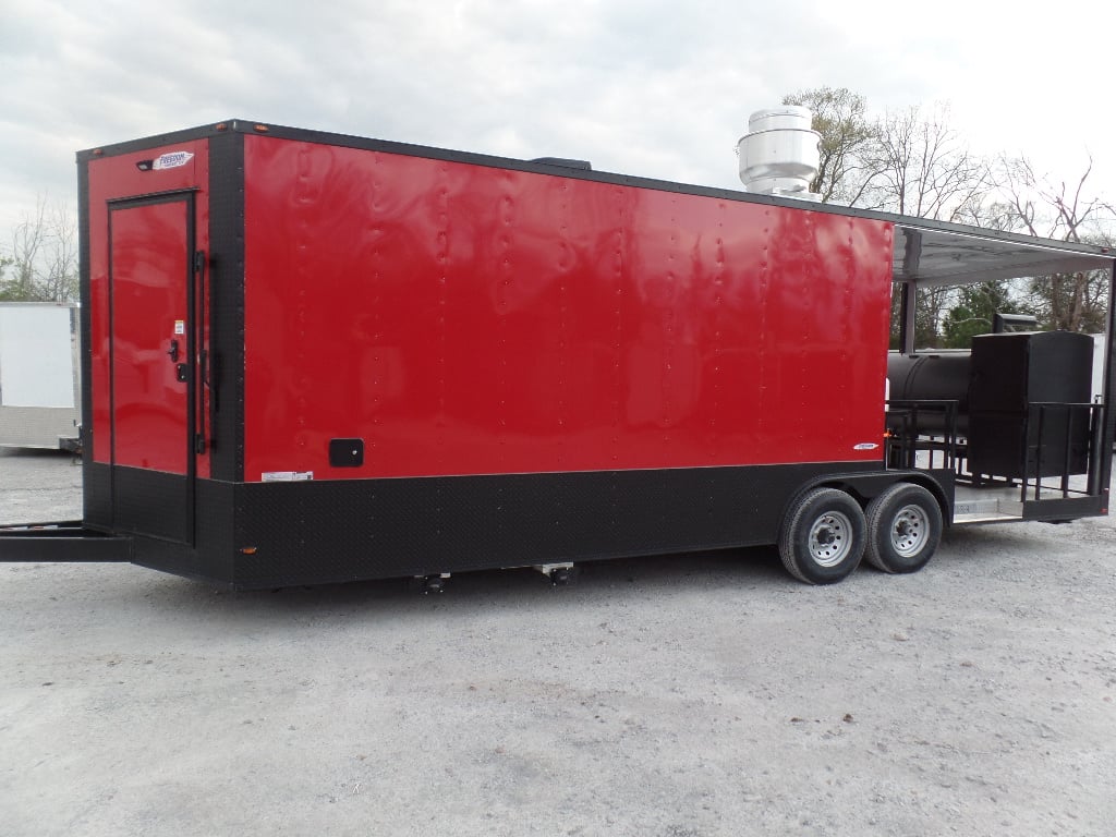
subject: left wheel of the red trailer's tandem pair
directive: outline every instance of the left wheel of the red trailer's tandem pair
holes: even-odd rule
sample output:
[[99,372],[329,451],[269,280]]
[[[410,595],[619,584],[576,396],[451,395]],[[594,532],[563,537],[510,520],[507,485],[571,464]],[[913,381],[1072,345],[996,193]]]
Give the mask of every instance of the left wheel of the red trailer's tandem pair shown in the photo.
[[814,489],[783,518],[779,555],[799,581],[834,584],[860,562],[865,528],[856,500],[837,489]]

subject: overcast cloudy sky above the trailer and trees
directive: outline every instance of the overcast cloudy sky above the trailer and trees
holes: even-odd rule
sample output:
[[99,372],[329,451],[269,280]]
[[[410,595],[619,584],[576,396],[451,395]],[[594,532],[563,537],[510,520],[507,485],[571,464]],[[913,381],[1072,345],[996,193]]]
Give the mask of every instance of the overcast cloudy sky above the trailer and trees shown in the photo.
[[949,102],[1116,200],[1108,2],[0,0],[0,247],[77,150],[244,118],[738,189],[752,110]]

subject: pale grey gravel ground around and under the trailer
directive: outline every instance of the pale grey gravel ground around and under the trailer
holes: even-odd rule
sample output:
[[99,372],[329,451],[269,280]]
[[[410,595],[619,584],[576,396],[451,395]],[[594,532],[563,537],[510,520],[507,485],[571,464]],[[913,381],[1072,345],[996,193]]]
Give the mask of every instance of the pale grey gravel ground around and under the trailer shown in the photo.
[[[80,516],[0,453],[0,521]],[[0,835],[1106,835],[1109,519],[234,594],[0,566]]]

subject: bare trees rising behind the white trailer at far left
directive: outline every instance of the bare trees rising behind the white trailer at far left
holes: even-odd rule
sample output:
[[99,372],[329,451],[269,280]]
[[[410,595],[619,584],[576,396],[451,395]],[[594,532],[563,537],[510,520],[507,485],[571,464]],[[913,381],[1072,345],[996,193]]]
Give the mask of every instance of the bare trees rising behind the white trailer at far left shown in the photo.
[[77,298],[77,220],[71,208],[40,195],[12,230],[0,257],[0,299],[65,302]]

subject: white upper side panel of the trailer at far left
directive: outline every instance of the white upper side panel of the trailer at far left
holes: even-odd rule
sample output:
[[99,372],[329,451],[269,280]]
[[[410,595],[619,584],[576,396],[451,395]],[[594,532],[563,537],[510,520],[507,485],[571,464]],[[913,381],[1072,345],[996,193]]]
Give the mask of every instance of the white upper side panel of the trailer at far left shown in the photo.
[[68,306],[0,306],[0,405],[74,407]]

